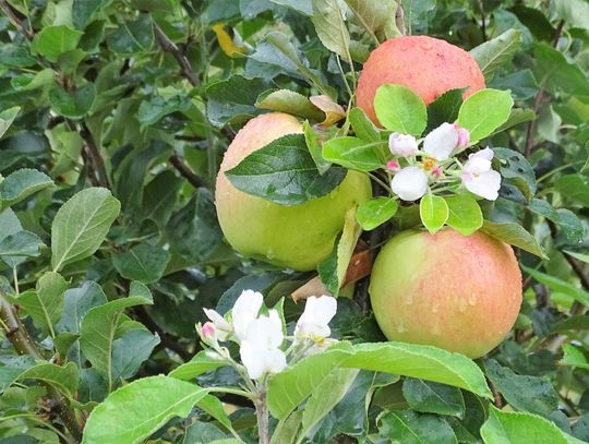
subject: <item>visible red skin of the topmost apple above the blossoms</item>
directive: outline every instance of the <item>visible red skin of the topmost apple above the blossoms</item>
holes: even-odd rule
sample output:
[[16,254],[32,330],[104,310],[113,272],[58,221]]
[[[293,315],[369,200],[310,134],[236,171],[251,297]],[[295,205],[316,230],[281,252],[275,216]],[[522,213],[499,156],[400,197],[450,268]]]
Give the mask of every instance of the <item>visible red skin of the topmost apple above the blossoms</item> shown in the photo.
[[468,89],[462,97],[484,88],[477,61],[464,49],[428,36],[406,36],[386,40],[368,58],[356,92],[357,104],[378,124],[374,95],[378,86],[396,83],[413,89],[425,105],[448,89]]

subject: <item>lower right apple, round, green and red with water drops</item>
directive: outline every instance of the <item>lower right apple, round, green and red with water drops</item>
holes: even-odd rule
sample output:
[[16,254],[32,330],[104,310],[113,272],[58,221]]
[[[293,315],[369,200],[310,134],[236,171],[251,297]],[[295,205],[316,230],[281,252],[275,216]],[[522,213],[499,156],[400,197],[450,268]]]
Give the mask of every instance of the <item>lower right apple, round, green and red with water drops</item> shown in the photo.
[[370,297],[388,339],[479,358],[516,321],[521,272],[509,245],[480,231],[409,230],[378,253]]

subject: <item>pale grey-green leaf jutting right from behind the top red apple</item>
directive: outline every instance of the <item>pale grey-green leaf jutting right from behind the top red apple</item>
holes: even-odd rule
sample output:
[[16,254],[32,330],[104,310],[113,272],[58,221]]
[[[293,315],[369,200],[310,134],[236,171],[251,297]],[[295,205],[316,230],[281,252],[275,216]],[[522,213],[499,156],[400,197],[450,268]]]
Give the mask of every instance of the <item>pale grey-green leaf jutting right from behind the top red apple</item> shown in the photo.
[[514,58],[520,46],[521,31],[508,29],[497,37],[472,48],[470,55],[479,63],[484,80],[491,82],[495,72]]

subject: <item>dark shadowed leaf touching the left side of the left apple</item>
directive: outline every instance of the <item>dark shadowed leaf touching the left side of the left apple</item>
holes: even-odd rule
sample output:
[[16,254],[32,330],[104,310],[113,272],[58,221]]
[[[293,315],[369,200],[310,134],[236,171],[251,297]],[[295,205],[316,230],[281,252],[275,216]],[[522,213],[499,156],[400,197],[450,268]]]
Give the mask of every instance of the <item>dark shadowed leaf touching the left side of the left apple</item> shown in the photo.
[[215,204],[208,190],[200,188],[187,205],[173,213],[166,226],[171,247],[190,263],[205,261],[223,242]]

